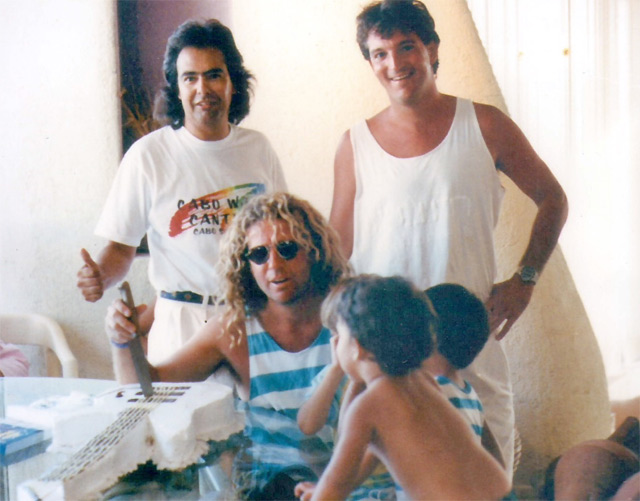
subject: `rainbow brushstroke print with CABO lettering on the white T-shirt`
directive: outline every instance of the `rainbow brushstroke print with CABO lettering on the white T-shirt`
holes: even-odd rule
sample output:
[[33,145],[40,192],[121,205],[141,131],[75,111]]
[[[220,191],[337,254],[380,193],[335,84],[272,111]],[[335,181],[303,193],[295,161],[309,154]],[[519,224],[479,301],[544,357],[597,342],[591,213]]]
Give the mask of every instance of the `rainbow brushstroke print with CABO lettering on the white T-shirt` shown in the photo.
[[194,234],[221,234],[233,216],[247,201],[265,192],[262,183],[231,186],[192,200],[179,200],[178,210],[169,223],[169,236],[177,237],[185,231]]

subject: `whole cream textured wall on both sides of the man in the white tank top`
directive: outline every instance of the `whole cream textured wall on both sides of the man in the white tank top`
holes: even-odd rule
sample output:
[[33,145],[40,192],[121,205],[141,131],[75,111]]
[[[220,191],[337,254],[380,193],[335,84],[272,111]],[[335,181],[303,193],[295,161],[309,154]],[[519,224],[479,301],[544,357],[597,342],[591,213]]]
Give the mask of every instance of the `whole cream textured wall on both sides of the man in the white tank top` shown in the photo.
[[[246,125],[265,131],[290,188],[328,214],[333,153],[340,134],[387,105],[355,43],[358,0],[236,0],[240,48],[258,76]],[[506,109],[464,0],[431,0],[443,92]],[[528,241],[535,206],[504,178],[496,234],[501,277],[511,276]],[[573,280],[558,250],[533,301],[505,341],[524,445],[520,478],[570,445],[610,431],[604,369]],[[526,480],[525,480],[526,481]]]

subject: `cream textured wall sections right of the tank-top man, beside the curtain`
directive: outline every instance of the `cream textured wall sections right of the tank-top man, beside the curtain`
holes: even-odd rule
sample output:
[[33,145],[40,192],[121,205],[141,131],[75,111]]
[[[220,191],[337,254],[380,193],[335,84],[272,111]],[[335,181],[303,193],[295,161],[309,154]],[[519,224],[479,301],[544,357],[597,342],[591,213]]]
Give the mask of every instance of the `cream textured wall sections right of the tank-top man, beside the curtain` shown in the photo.
[[[466,3],[439,0],[427,5],[443,39],[440,88],[506,111]],[[447,36],[454,33],[457,36]],[[507,197],[496,243],[499,274],[507,278],[524,252],[535,205],[505,176],[503,184]],[[602,358],[560,249],[505,342],[523,442],[519,478],[528,478],[532,470],[577,442],[609,434]]]

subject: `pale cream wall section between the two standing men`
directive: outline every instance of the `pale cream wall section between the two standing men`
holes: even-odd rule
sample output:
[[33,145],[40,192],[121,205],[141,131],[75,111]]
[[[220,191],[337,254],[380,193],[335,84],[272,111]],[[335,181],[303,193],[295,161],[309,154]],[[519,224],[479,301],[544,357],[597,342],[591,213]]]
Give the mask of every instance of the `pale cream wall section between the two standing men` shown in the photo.
[[327,216],[340,135],[386,102],[384,91],[369,85],[370,70],[355,43],[361,4],[236,0],[232,10],[236,41],[257,76],[242,125],[269,136],[289,188]]

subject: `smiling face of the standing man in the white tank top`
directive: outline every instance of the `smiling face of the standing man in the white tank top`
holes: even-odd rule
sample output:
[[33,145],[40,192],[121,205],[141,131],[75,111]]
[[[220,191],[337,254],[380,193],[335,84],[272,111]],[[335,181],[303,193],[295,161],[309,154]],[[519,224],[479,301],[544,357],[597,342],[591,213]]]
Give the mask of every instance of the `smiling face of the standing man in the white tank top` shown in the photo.
[[436,92],[433,64],[438,58],[435,42],[425,46],[415,34],[396,31],[383,38],[371,31],[367,38],[374,74],[393,102],[411,104]]

